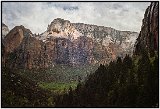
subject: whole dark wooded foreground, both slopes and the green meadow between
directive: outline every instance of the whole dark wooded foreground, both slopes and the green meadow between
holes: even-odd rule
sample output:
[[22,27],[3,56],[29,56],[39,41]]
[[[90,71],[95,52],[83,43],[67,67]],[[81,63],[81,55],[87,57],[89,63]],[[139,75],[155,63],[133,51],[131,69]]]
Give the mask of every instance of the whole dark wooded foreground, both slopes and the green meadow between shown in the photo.
[[3,68],[2,107],[158,107],[158,62],[157,52],[118,57],[85,81],[63,86],[38,85]]

